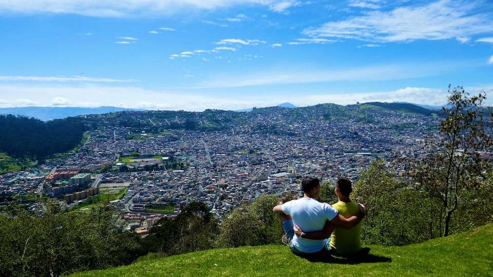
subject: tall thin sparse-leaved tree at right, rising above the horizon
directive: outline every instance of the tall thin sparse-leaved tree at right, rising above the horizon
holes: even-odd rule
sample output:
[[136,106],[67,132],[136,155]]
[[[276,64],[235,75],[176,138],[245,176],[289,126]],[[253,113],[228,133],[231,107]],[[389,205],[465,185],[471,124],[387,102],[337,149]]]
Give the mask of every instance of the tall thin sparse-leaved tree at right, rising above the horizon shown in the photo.
[[482,107],[485,93],[470,96],[463,87],[450,85],[448,92],[450,108],[443,108],[440,132],[426,141],[429,154],[414,172],[420,187],[442,204],[443,236],[449,235],[452,214],[465,201],[461,192],[479,186],[486,168],[479,152],[490,146]]

